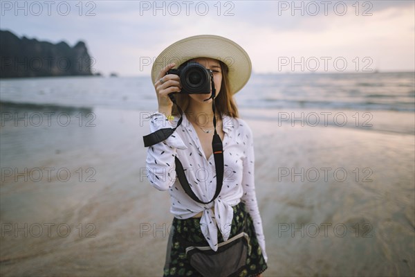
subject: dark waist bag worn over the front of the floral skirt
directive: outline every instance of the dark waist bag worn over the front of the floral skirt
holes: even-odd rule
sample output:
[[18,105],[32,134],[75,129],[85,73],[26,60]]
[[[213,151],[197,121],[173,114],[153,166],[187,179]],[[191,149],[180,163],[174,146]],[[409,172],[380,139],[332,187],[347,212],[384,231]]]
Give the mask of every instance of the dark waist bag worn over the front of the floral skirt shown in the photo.
[[205,277],[231,276],[246,265],[250,252],[249,236],[242,232],[218,244],[215,252],[210,247],[187,247],[190,265]]

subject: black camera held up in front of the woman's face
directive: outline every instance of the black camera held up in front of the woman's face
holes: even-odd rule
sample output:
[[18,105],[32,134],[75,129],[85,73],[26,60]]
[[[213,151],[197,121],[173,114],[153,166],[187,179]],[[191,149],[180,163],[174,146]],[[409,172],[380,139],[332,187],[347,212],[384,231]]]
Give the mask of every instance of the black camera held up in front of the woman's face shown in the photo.
[[212,71],[197,62],[187,62],[178,66],[178,69],[170,69],[166,74],[175,74],[180,77],[182,93],[210,93]]

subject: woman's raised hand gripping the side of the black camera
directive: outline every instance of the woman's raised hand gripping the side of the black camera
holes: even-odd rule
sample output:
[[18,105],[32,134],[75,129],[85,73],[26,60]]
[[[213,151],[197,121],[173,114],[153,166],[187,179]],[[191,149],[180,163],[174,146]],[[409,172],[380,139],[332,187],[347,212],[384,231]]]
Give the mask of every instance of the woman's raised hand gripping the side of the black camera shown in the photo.
[[180,78],[176,74],[168,74],[167,71],[172,69],[176,64],[169,64],[160,71],[157,77],[157,82],[154,84],[156,87],[157,100],[158,100],[158,112],[165,114],[166,116],[172,112],[173,102],[169,98],[169,93],[180,92],[181,84]]

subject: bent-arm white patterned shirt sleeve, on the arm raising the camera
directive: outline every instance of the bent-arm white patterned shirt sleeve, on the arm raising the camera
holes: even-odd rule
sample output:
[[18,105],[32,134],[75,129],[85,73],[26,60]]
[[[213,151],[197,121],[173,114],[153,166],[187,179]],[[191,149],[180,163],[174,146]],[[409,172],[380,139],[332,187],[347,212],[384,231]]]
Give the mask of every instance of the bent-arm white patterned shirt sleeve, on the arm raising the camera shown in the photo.
[[[156,112],[148,116],[150,132],[158,129],[171,128],[173,124],[169,122],[164,114]],[[165,141],[156,143],[147,149],[147,179],[154,188],[158,190],[168,190],[176,181],[176,157],[177,149],[187,149],[177,132],[174,131]]]

